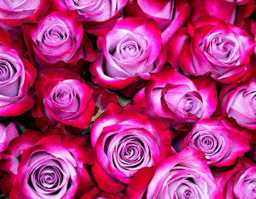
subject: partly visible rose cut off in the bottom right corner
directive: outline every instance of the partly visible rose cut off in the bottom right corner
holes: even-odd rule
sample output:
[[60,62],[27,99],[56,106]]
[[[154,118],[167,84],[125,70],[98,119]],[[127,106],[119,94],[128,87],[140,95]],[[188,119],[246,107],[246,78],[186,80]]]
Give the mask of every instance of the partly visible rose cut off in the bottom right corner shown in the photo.
[[256,166],[248,159],[239,160],[235,167],[229,170],[213,170],[213,174],[225,198],[255,197]]

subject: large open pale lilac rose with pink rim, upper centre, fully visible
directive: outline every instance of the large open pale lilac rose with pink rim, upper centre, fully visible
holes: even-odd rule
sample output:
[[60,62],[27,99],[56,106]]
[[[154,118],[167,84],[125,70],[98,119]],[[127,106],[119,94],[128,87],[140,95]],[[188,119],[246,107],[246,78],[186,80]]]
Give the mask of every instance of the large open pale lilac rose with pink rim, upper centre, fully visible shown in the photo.
[[123,19],[100,36],[97,45],[102,54],[91,63],[92,81],[108,89],[122,90],[141,78],[149,80],[149,72],[165,64],[160,29],[152,19]]

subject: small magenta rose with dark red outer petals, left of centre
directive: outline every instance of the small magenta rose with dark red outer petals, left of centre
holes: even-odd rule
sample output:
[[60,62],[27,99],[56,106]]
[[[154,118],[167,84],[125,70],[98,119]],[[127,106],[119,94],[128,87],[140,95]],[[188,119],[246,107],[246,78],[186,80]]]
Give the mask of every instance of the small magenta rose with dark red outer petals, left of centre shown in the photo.
[[95,111],[93,90],[88,86],[70,70],[41,70],[36,80],[37,103],[32,116],[42,129],[57,122],[86,129]]

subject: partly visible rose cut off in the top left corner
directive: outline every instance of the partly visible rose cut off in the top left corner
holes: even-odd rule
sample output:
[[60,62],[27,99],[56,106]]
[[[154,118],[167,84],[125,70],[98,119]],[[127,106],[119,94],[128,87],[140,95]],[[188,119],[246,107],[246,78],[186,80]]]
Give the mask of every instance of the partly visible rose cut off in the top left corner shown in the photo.
[[49,0],[2,1],[0,22],[7,26],[22,26],[23,22],[37,22],[51,6]]

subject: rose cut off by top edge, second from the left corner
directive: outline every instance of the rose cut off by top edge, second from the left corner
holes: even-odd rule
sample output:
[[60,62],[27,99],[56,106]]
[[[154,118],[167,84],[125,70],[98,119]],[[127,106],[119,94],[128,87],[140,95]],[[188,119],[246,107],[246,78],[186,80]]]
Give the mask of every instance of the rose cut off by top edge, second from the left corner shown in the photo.
[[79,14],[78,20],[83,22],[86,32],[97,36],[104,33],[123,18],[123,7],[128,0],[91,0],[91,1],[52,1],[54,10],[76,10]]

